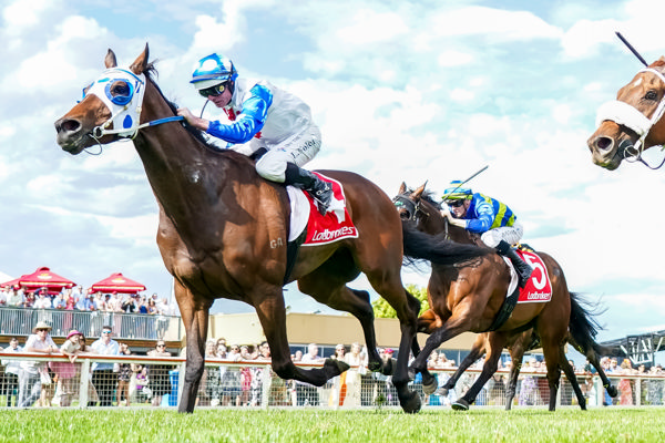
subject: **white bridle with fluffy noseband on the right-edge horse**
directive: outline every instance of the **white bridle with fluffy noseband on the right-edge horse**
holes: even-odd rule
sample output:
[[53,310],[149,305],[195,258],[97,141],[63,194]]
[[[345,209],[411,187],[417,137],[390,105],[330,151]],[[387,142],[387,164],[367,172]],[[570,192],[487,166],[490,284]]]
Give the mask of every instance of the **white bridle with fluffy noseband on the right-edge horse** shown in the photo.
[[[663,84],[665,85],[665,75],[662,72],[653,69],[653,68],[644,68],[640,73],[648,72],[656,75]],[[611,121],[616,123],[617,125],[623,125],[632,131],[634,131],[640,140],[635,144],[631,143],[628,140],[624,140],[620,143],[618,150],[622,153],[624,159],[626,162],[641,162],[649,169],[658,169],[665,164],[665,158],[661,162],[658,166],[651,166],[647,164],[644,158],[642,158],[642,153],[644,152],[644,141],[648,135],[648,132],[652,127],[661,120],[663,114],[665,113],[665,94],[658,102],[656,110],[654,111],[651,119],[645,116],[642,112],[640,112],[633,105],[621,102],[618,100],[614,100],[607,103],[604,103],[598,109],[596,115],[596,127],[601,125],[604,121]]]

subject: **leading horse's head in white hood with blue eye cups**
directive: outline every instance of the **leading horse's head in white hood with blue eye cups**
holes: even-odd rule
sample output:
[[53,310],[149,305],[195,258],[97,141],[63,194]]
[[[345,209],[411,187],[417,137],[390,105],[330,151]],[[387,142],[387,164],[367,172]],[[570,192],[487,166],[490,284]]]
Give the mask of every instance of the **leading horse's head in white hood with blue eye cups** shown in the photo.
[[109,50],[104,59],[106,70],[83,89],[83,99],[55,122],[62,150],[75,155],[94,144],[136,135],[147,54],[146,43],[130,66],[117,68],[115,54]]

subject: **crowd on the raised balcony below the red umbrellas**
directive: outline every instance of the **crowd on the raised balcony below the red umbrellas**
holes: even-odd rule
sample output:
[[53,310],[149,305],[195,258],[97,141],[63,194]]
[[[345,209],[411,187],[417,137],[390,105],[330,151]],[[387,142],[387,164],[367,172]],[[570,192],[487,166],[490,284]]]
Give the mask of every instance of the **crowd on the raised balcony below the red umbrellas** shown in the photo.
[[168,303],[167,298],[160,298],[156,293],[151,297],[139,293],[103,293],[93,291],[92,288],[84,290],[81,286],[63,288],[58,293],[50,293],[47,288],[27,290],[3,286],[0,288],[0,307],[177,315],[177,307]]

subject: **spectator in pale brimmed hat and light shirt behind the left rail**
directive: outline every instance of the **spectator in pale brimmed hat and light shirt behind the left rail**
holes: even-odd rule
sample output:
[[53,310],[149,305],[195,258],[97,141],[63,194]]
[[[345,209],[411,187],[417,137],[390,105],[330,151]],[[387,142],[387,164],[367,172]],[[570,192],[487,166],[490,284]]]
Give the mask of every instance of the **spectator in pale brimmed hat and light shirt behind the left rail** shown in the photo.
[[[49,334],[51,327],[39,321],[32,329],[32,334],[25,341],[25,352],[51,354],[58,347]],[[48,379],[47,362],[22,361],[19,371],[19,408],[31,406],[41,395],[42,382],[50,383]]]

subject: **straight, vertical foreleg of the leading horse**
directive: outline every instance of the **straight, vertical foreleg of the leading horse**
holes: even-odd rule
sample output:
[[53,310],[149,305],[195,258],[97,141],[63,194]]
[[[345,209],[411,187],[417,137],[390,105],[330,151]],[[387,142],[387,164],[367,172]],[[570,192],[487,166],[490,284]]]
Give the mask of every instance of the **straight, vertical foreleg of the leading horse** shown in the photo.
[[174,291],[187,338],[185,383],[177,411],[191,413],[194,412],[198,384],[205,369],[205,338],[207,336],[211,302],[207,299],[195,298],[177,280],[174,285]]

